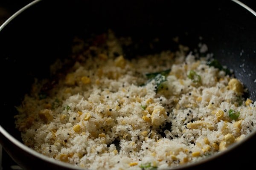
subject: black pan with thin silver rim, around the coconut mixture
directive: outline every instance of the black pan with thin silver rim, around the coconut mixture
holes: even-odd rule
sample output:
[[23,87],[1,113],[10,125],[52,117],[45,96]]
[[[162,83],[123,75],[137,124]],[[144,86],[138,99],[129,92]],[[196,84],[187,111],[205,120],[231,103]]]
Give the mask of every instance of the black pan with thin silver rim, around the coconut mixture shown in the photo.
[[[74,169],[24,146],[13,116],[34,78],[47,78],[56,58],[69,57],[73,36],[88,38],[108,28],[131,36],[139,48],[127,56],[175,49],[172,38],[197,48],[208,45],[222,65],[234,70],[248,88],[244,97],[256,100],[256,13],[236,0],[35,0],[0,27],[2,111],[0,144],[24,169]],[[158,37],[151,49],[149,43]],[[202,40],[199,40],[202,37]],[[183,169],[256,167],[256,130],[227,151]]]

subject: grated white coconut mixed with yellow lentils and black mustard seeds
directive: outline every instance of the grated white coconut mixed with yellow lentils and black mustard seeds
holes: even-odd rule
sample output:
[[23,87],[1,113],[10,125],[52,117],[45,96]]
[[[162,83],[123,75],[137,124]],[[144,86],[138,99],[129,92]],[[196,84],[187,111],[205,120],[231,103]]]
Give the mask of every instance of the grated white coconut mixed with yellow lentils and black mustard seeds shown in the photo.
[[221,152],[256,128],[242,82],[187,47],[128,60],[122,45],[131,38],[102,40],[84,48],[76,39],[67,74],[35,82],[15,116],[24,144],[91,170],[160,170]]

